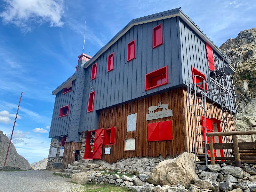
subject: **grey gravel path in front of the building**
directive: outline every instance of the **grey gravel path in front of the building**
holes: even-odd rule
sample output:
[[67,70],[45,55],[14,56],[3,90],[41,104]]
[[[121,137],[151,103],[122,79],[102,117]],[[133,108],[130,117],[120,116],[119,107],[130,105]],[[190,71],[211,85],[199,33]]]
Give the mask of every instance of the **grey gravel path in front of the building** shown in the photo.
[[[54,171],[0,171],[1,192],[74,192],[81,186],[69,178],[52,175]],[[73,190],[72,190],[73,189]]]

